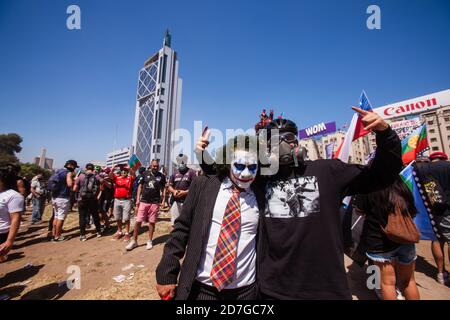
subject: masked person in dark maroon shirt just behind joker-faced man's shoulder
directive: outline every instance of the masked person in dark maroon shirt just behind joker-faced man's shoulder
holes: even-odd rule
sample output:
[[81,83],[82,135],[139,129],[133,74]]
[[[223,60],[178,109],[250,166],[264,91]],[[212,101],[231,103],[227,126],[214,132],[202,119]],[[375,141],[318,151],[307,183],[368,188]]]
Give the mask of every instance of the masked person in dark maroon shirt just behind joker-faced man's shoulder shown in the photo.
[[172,226],[175,224],[175,220],[180,216],[181,209],[183,208],[184,200],[186,199],[189,187],[197,174],[194,170],[187,166],[188,158],[184,154],[177,156],[178,168],[170,176],[168,191],[171,193],[170,205],[170,220]]

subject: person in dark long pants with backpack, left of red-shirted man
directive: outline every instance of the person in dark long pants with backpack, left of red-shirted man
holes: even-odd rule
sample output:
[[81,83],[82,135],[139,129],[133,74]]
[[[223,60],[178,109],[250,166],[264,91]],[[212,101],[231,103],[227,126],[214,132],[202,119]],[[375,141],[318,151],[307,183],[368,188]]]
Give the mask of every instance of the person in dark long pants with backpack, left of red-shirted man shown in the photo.
[[86,241],[86,222],[92,217],[97,238],[101,237],[102,229],[98,215],[98,195],[100,192],[100,176],[95,172],[92,163],[86,165],[86,171],[75,179],[73,191],[78,195],[78,213],[80,215],[80,241]]

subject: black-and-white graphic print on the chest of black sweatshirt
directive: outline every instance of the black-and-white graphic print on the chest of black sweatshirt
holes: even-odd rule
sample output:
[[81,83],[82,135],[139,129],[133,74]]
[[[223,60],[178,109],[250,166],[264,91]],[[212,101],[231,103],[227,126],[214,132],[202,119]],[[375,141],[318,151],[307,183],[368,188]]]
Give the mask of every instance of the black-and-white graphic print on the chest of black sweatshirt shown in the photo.
[[320,212],[317,177],[273,181],[266,189],[267,218],[304,218]]

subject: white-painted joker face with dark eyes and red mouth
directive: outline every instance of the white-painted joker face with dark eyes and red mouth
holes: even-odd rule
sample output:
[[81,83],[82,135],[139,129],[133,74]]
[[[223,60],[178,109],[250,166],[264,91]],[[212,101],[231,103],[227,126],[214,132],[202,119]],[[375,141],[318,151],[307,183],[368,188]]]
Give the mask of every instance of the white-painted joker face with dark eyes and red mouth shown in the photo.
[[236,151],[231,160],[230,178],[239,188],[250,188],[257,171],[258,161],[255,155],[247,151]]

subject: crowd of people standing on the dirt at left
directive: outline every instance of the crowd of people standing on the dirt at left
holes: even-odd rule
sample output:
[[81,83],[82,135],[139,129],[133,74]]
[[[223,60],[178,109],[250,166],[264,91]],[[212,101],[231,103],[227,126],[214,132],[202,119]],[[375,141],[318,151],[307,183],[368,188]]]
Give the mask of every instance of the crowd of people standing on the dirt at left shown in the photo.
[[[160,210],[169,210],[169,196],[186,196],[192,179],[197,174],[189,169],[189,179],[178,181],[187,163],[184,155],[180,168],[168,177],[162,173],[159,162],[153,160],[148,168],[135,171],[127,164],[112,168],[95,166],[92,163],[79,168],[77,161],[66,161],[64,168],[57,170],[46,181],[38,174],[28,182],[19,176],[20,166],[8,165],[0,168],[0,257],[7,259],[18,232],[21,216],[27,202],[32,206],[31,225],[42,223],[45,208],[51,208],[48,237],[52,242],[63,242],[69,237],[64,233],[64,222],[76,206],[78,209],[80,241],[88,239],[87,230],[95,227],[95,237],[101,237],[110,230],[113,221],[117,231],[113,239],[127,242],[126,249],[136,248],[139,229],[143,222],[149,223],[147,249],[152,249],[152,238]],[[169,191],[170,190],[170,191]],[[136,213],[133,238],[130,220]]]

